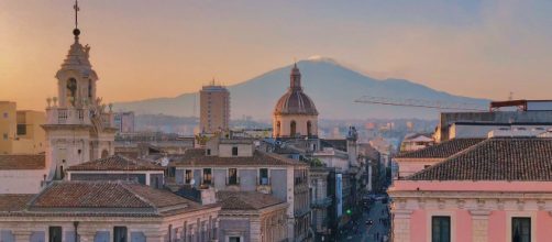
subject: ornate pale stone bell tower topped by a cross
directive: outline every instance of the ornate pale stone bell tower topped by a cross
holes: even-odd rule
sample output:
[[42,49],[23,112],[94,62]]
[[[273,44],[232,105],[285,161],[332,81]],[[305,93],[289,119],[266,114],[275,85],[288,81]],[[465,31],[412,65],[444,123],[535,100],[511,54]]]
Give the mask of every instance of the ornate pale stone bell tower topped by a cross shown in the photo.
[[79,43],[78,2],[75,2],[74,43],[57,72],[57,97],[46,107],[47,180],[64,178],[68,166],[113,155],[114,129],[109,110],[96,96],[98,75],[89,62],[90,47]]

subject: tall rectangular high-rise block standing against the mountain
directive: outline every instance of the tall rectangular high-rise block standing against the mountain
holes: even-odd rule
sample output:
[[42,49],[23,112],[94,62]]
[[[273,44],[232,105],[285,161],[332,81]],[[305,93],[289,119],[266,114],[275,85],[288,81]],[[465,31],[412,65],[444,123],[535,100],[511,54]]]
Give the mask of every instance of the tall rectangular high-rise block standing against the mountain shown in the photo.
[[202,133],[227,131],[230,124],[230,92],[211,84],[199,91],[199,130]]

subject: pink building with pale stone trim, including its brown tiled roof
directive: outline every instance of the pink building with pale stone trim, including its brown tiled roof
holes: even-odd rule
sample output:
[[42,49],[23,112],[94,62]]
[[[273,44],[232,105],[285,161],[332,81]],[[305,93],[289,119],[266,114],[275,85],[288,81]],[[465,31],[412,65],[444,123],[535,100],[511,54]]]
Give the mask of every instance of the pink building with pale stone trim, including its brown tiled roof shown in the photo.
[[396,180],[394,241],[548,241],[552,140],[488,139]]

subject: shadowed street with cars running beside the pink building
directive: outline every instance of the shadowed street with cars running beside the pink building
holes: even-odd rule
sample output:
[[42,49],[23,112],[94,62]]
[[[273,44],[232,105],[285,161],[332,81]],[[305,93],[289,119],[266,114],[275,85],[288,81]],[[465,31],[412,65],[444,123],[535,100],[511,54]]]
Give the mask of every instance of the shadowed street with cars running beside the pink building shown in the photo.
[[[364,212],[362,219],[355,222],[352,228],[344,232],[339,241],[354,241],[354,242],[379,242],[388,241],[388,212],[387,205],[382,201],[375,201],[369,212]],[[380,219],[386,219],[383,221]],[[372,226],[366,222],[372,220]]]

